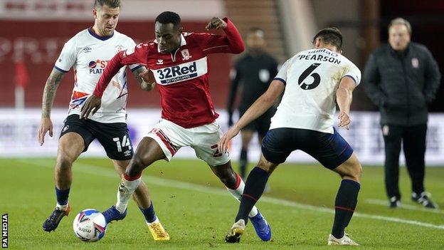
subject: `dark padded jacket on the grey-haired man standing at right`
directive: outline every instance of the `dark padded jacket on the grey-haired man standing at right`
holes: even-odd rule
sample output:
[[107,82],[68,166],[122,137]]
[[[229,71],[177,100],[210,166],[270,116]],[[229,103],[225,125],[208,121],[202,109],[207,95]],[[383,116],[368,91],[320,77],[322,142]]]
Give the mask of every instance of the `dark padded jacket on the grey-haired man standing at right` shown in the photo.
[[411,42],[399,53],[387,44],[371,53],[363,83],[381,111],[381,125],[419,125],[427,123],[427,106],[435,99],[440,71],[425,46]]

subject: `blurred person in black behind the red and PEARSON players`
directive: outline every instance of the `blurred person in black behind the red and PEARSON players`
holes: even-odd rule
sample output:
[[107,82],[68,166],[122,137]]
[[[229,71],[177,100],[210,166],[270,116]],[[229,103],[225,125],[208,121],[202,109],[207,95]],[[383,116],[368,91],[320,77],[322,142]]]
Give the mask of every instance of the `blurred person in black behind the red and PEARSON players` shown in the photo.
[[[270,54],[265,53],[265,33],[260,28],[250,28],[246,37],[247,53],[235,63],[231,71],[231,87],[228,95],[228,127],[233,125],[233,105],[238,93],[239,85],[242,95],[238,106],[239,117],[268,89],[271,81],[277,74],[277,61]],[[240,177],[245,177],[248,164],[247,151],[250,140],[255,131],[258,132],[259,142],[270,128],[270,119],[275,115],[276,108],[272,107],[260,118],[254,120],[240,131],[242,149],[240,150]]]

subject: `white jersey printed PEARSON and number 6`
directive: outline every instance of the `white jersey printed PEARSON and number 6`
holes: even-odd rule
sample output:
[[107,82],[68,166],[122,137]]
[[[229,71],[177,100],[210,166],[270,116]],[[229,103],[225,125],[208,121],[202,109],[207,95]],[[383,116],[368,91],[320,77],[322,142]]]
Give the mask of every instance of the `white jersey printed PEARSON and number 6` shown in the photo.
[[361,81],[361,71],[354,63],[327,48],[301,51],[288,59],[275,77],[285,84],[285,93],[270,129],[293,127],[333,133],[336,91],[346,76],[356,85]]

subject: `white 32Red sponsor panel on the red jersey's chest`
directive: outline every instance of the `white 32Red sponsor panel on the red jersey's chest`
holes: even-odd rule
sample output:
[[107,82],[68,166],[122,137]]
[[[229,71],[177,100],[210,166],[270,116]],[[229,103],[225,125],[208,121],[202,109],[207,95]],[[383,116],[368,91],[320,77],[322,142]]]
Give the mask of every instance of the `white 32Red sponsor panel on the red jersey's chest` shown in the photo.
[[179,83],[184,80],[198,78],[207,73],[206,57],[196,61],[181,63],[177,66],[159,68],[154,72],[154,78],[161,85]]

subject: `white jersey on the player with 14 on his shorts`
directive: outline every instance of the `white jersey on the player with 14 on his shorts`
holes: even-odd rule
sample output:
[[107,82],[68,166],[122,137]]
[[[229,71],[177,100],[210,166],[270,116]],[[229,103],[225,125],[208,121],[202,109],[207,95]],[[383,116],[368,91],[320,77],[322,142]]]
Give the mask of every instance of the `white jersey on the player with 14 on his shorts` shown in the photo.
[[[94,92],[107,62],[117,52],[134,46],[136,44],[132,38],[122,33],[114,31],[111,36],[97,36],[91,28],[80,31],[65,43],[54,67],[63,72],[74,68],[69,115],[80,115],[80,108]],[[139,67],[129,66],[132,71]],[[127,73],[125,67],[122,67],[107,86],[102,97],[102,107],[89,118],[99,123],[126,123],[127,96]]]

